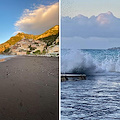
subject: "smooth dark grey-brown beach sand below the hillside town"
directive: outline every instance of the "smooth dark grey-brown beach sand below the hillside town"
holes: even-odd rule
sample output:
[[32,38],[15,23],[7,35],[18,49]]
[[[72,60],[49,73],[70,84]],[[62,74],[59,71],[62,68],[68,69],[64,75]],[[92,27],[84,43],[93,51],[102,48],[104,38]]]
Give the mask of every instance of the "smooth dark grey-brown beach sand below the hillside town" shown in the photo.
[[0,63],[0,120],[58,120],[58,58]]

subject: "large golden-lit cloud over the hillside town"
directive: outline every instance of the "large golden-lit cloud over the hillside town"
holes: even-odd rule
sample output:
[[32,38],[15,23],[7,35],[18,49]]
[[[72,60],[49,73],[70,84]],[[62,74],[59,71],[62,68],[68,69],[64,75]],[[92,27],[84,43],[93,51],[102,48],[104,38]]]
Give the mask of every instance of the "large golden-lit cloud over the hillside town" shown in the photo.
[[44,6],[34,10],[25,9],[15,27],[23,32],[41,34],[59,23],[59,3]]

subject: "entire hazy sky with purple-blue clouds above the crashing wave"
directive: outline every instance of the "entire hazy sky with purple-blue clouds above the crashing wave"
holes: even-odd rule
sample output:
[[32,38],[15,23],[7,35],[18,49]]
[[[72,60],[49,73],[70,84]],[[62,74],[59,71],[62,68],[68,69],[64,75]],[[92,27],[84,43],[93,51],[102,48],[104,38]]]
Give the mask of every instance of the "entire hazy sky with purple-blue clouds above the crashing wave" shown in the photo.
[[120,0],[62,0],[62,48],[120,47]]

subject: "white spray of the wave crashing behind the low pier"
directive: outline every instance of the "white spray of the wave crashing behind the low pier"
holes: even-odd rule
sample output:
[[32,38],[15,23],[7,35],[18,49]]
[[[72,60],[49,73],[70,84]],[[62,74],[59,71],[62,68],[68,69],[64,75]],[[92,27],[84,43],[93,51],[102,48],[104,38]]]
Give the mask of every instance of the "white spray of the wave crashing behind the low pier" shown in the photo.
[[90,54],[83,51],[70,51],[62,55],[61,72],[75,74],[96,74],[107,72],[120,72],[119,56],[110,59],[106,56],[101,62],[93,58]]

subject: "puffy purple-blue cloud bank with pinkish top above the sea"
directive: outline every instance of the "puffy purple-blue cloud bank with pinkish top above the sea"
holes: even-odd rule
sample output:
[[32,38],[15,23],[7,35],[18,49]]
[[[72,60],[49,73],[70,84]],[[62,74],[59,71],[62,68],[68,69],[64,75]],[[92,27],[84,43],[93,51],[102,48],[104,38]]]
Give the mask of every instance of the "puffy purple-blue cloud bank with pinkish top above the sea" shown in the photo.
[[90,18],[78,15],[62,17],[62,37],[120,37],[120,19],[111,12],[101,13]]

